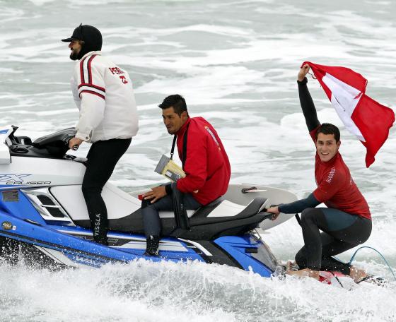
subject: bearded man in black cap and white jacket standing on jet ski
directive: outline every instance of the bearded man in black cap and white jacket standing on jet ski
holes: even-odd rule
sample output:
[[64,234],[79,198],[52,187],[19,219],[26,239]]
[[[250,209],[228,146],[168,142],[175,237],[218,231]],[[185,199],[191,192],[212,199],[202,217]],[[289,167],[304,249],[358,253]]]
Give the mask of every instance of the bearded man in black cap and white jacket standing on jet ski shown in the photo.
[[107,209],[100,193],[138,130],[136,102],[128,73],[102,56],[102,35],[91,25],[79,25],[70,38],[70,59],[77,61],[71,90],[80,110],[76,136],[88,152],[82,191],[93,229],[93,240],[107,245]]

